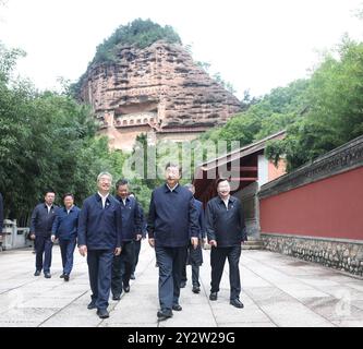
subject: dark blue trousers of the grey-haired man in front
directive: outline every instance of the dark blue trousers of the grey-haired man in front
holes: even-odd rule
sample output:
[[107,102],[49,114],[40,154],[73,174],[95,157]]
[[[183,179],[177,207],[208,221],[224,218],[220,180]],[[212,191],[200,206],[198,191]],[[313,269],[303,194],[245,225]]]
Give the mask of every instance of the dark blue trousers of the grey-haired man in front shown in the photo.
[[92,301],[100,310],[108,306],[113,255],[114,250],[88,250],[87,252]]

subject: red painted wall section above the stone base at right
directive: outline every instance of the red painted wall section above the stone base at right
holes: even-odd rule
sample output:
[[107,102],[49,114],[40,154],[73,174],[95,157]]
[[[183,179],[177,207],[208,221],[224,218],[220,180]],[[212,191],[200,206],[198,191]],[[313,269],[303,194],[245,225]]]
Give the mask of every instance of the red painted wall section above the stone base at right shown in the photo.
[[259,203],[263,233],[363,240],[363,167]]

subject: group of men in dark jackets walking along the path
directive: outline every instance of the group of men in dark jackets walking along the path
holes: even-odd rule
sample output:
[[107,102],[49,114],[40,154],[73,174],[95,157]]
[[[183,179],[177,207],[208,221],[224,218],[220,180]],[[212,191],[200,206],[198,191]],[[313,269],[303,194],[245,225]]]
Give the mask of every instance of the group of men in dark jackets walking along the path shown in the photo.
[[[116,196],[110,194],[112,177],[101,172],[97,178],[98,191],[87,197],[82,209],[74,205],[74,196],[63,196],[63,207],[55,205],[53,192],[47,192],[45,202],[32,214],[31,238],[35,240],[36,270],[50,278],[52,244],[58,239],[61,250],[64,281],[70,280],[73,253],[78,246],[87,256],[92,300],[89,310],[97,309],[101,318],[109,316],[108,301],[120,300],[122,291],[130,292],[134,278],[141,241],[148,234],[155,249],[159,270],[159,320],[182,311],[180,289],[186,284],[186,265],[192,266],[192,291],[199,293],[199,266],[202,246],[211,246],[211,288],[209,299],[218,298],[226,258],[230,267],[230,303],[243,308],[240,301],[241,281],[239,260],[241,244],[246,241],[246,230],[241,203],[230,195],[229,182],[217,180],[218,196],[203,204],[194,198],[194,186],[179,183],[181,168],[166,166],[166,183],[152,193],[147,225],[141,205],[130,194],[129,183],[116,183]],[[2,225],[2,197],[0,194],[0,227]]]

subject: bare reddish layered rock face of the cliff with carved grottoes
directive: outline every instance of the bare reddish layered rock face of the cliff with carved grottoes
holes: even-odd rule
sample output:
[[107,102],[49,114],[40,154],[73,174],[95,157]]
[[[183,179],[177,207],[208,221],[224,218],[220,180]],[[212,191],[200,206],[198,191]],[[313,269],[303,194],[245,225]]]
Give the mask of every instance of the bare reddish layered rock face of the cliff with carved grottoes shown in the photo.
[[90,65],[81,99],[92,105],[113,148],[131,149],[136,135],[184,141],[221,125],[240,101],[180,45],[123,46],[116,62]]

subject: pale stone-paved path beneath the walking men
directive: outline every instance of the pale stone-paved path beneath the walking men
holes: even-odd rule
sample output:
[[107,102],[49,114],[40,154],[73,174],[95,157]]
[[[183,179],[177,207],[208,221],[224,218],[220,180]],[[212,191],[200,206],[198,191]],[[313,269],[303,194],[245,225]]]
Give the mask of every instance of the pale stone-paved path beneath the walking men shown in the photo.
[[33,276],[34,261],[29,249],[0,253],[0,327],[363,326],[362,279],[267,251],[242,252],[243,310],[229,304],[227,265],[218,300],[209,301],[209,251],[204,251],[202,292],[192,293],[189,280],[180,299],[183,311],[160,323],[156,317],[158,269],[146,241],[131,292],[119,302],[110,300],[110,317],[105,321],[86,309],[90,294],[87,265],[77,252],[70,282],[59,278],[58,246],[51,279]]

